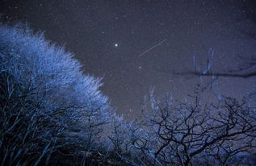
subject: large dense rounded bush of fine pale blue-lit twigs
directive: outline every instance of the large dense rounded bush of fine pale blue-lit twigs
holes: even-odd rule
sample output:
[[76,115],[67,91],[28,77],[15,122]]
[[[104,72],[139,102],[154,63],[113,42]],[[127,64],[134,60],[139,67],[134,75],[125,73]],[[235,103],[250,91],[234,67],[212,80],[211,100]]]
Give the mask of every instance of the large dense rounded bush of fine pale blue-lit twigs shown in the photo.
[[0,165],[57,165],[98,148],[111,118],[100,85],[41,33],[1,24]]

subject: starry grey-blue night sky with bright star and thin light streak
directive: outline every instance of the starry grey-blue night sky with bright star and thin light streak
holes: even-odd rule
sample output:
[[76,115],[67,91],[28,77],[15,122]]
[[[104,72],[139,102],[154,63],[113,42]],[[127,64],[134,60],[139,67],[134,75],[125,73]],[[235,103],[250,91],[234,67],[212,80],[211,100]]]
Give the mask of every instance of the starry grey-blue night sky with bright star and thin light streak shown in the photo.
[[[28,23],[65,44],[85,73],[103,77],[111,106],[129,118],[152,87],[177,99],[192,92],[199,78],[174,73],[192,71],[193,55],[203,68],[215,50],[215,72],[237,68],[238,56],[256,56],[255,0],[1,0],[0,6],[2,21]],[[256,91],[255,82],[220,77],[215,91],[246,95]]]

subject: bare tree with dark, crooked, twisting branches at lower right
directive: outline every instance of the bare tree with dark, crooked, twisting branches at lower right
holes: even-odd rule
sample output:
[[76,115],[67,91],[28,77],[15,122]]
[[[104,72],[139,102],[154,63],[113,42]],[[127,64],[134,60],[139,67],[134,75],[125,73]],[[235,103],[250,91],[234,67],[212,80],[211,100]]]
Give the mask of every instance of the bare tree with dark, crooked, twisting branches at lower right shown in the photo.
[[170,96],[150,97],[145,107],[145,125],[157,137],[154,156],[162,164],[192,165],[203,154],[228,165],[232,156],[255,147],[255,110],[246,101],[225,98],[219,105],[205,106],[199,93],[195,102],[174,106]]

